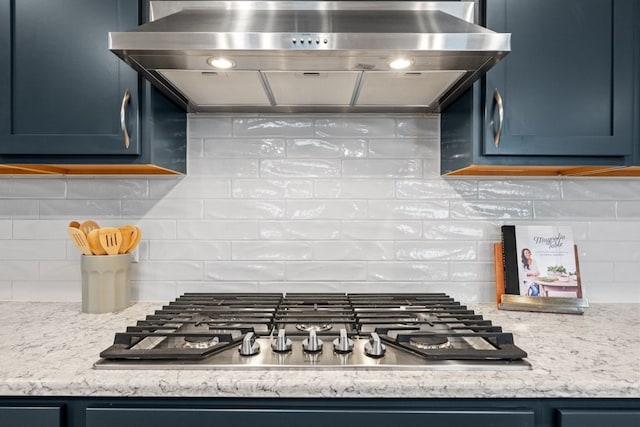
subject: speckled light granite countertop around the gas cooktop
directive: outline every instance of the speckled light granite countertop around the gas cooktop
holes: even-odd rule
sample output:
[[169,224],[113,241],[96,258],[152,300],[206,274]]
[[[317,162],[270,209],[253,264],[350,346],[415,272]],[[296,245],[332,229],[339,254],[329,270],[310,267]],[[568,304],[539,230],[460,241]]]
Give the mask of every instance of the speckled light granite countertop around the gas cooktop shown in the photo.
[[640,305],[582,316],[469,304],[514,333],[529,371],[107,371],[98,354],[161,304],[83,314],[77,303],[0,302],[0,395],[190,397],[640,397]]

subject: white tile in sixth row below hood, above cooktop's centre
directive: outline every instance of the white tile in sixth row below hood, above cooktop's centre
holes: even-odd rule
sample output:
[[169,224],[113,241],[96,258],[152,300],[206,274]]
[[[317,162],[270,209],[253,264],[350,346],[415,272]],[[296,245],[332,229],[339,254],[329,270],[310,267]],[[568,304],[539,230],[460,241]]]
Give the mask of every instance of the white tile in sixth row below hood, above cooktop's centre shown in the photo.
[[260,238],[274,240],[328,240],[340,236],[340,221],[261,221]]

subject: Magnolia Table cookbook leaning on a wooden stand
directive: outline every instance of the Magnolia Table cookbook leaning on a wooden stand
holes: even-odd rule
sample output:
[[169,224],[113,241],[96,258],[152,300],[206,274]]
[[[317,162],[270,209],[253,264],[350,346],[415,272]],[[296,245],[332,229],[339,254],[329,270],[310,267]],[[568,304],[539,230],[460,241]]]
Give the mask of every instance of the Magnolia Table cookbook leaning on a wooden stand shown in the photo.
[[582,298],[577,249],[569,226],[502,226],[505,293]]

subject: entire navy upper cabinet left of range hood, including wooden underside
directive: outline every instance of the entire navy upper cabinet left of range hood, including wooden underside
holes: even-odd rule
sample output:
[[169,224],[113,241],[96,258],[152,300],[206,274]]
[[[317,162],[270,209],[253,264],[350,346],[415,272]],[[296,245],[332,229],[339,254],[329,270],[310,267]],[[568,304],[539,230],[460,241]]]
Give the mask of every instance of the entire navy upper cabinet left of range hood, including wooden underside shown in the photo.
[[108,49],[139,4],[0,2],[0,172],[185,172],[186,114]]

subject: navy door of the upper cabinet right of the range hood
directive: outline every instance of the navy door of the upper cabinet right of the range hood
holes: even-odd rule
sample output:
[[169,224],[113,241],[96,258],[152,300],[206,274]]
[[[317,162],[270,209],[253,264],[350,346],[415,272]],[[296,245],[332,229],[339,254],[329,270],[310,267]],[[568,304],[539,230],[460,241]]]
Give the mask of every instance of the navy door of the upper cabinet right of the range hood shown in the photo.
[[512,51],[486,77],[484,155],[632,154],[633,2],[487,0]]

